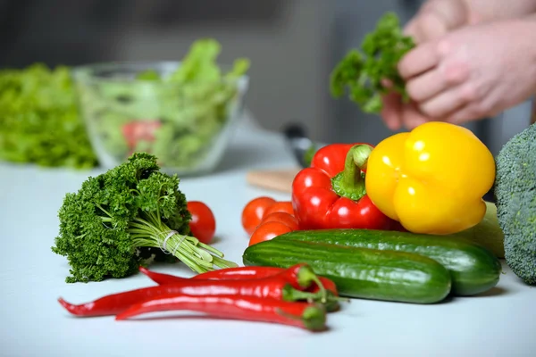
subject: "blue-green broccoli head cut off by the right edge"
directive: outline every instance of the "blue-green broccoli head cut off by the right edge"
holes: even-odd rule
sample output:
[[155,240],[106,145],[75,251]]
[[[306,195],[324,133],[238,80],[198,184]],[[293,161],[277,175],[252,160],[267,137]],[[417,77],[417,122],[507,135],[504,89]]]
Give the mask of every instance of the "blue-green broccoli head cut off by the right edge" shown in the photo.
[[536,285],[536,124],[512,137],[496,162],[495,195],[505,259],[516,276]]

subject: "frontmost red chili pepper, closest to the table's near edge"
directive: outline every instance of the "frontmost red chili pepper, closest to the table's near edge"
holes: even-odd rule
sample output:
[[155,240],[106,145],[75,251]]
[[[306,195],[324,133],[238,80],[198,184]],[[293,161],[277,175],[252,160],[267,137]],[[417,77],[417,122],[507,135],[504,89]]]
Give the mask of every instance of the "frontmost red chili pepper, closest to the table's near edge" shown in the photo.
[[279,323],[312,331],[326,328],[326,311],[322,305],[237,295],[163,295],[130,306],[115,320],[130,319],[154,311],[205,312],[217,318]]

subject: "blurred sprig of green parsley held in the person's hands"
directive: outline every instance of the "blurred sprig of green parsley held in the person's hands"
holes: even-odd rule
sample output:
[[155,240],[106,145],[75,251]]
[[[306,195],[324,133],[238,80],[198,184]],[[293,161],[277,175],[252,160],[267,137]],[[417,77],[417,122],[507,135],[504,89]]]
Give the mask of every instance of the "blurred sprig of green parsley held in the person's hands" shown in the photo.
[[[348,92],[352,102],[370,113],[381,112],[381,95],[389,92],[397,92],[407,100],[397,64],[414,46],[413,38],[402,33],[397,15],[387,12],[376,29],[364,37],[361,51],[348,52],[331,72],[331,95],[340,97]],[[384,80],[389,81],[389,87],[384,86]]]

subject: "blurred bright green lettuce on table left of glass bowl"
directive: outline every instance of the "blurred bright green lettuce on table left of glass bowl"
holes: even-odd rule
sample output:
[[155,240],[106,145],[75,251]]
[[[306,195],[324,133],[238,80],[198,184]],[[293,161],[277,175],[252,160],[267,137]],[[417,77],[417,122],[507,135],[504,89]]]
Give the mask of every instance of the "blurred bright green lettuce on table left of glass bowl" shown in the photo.
[[0,160],[96,166],[68,67],[37,63],[0,71]]

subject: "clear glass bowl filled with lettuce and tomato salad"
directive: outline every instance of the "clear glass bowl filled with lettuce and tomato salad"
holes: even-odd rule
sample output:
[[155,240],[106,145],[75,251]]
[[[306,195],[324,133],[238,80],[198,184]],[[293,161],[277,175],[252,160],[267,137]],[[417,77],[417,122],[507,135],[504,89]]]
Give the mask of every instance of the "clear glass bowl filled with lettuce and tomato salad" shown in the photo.
[[228,72],[205,62],[75,68],[80,114],[100,164],[112,168],[134,152],[146,152],[170,173],[214,170],[243,110],[248,64],[240,61],[246,60]]

